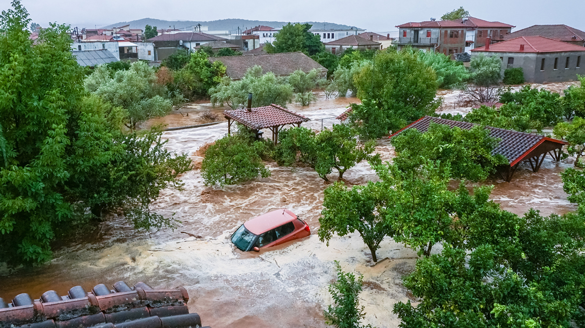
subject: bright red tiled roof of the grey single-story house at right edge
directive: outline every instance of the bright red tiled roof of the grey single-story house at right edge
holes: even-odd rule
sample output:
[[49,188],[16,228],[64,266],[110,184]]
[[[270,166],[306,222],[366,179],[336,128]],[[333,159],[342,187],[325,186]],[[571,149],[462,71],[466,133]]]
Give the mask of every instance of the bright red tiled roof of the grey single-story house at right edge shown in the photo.
[[[520,50],[520,46],[524,46]],[[577,46],[562,41],[548,39],[542,36],[521,36],[511,40],[501,41],[486,46],[472,49],[472,51],[494,51],[501,53],[558,53],[561,51],[585,51],[585,47]]]

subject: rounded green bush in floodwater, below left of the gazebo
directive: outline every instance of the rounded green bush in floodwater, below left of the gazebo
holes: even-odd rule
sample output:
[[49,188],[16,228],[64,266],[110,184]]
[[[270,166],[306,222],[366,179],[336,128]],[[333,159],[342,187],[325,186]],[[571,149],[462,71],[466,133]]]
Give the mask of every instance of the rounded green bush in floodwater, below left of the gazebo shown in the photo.
[[223,137],[205,152],[201,176],[205,185],[239,184],[257,176],[268,177],[267,169],[257,152],[261,142],[250,143],[241,135]]

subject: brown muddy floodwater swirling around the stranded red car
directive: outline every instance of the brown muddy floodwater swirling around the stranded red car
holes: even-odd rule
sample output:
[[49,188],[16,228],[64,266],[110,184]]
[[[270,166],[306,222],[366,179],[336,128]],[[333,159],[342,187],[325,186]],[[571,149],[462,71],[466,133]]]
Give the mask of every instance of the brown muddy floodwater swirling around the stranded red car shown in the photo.
[[[556,83],[558,84],[558,83]],[[563,88],[564,89],[564,88]],[[441,92],[446,98],[453,92]],[[315,120],[311,128],[320,130],[335,119],[355,98],[325,100],[308,107],[289,106]],[[446,100],[445,103],[448,103]],[[198,124],[204,111],[221,113],[223,108],[194,103],[147,125],[169,127]],[[444,109],[461,111],[466,109]],[[186,114],[189,113],[189,116]],[[329,124],[329,125],[328,125]],[[271,176],[240,186],[205,187],[199,168],[202,158],[197,149],[221,138],[227,123],[208,127],[164,132],[167,147],[188,153],[194,169],[181,176],[183,191],[163,190],[152,210],[174,216],[178,228],[159,232],[136,232],[119,217],[111,217],[90,236],[75,238],[54,251],[50,263],[35,268],[0,268],[0,297],[11,299],[27,292],[34,298],[54,289],[60,295],[74,285],[86,290],[98,283],[112,285],[147,282],[153,287],[183,285],[190,295],[190,312],[197,312],[204,325],[212,327],[325,327],[323,310],[332,302],[327,286],[335,280],[333,261],[345,271],[364,275],[360,303],[367,313],[364,323],[376,327],[397,327],[392,313],[396,302],[409,299],[402,277],[414,269],[417,254],[387,238],[378,250],[377,264],[359,234],[334,236],[326,246],[316,235],[322,210],[324,182],[308,168],[281,168],[267,163]],[[266,137],[266,135],[265,135]],[[394,156],[387,139],[378,142],[376,152],[384,160]],[[532,173],[521,166],[511,183],[492,177],[491,198],[508,211],[523,214],[529,208],[541,213],[563,214],[576,209],[563,192],[560,172],[572,165],[546,158],[541,170]],[[334,175],[330,176],[332,180]],[[344,175],[347,184],[364,184],[377,177],[367,163],[360,163]],[[471,188],[474,184],[469,183]],[[259,253],[242,253],[229,242],[230,235],[247,219],[278,208],[288,208],[307,221],[311,236]],[[440,252],[436,246],[433,252]]]

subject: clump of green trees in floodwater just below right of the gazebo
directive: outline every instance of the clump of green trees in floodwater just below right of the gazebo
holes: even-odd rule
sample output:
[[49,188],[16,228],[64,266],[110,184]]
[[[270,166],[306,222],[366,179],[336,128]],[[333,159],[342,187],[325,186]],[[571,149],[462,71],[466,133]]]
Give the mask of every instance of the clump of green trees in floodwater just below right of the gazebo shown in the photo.
[[290,166],[297,161],[311,166],[319,177],[329,181],[327,175],[338,170],[339,179],[343,173],[364,159],[374,159],[375,142],[360,144],[357,132],[346,124],[333,124],[332,130],[325,129],[319,134],[304,127],[283,130],[278,135],[276,160],[278,165]]

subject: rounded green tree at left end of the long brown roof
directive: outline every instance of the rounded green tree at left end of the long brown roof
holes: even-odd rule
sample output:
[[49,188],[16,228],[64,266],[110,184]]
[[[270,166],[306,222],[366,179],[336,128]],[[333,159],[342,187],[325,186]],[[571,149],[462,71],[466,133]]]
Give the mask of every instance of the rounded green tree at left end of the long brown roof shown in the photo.
[[219,84],[225,70],[222,62],[212,64],[206,53],[195,51],[187,65],[177,71],[174,80],[187,99],[195,99],[208,96],[209,89]]

